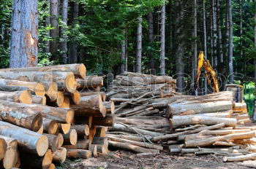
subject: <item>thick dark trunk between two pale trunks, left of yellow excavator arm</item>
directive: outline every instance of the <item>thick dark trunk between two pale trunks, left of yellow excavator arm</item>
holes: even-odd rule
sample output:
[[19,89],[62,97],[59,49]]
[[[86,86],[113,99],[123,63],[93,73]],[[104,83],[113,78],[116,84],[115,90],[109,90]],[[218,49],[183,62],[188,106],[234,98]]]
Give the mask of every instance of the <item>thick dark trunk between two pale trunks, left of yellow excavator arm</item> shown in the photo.
[[181,0],[175,0],[175,25],[176,25],[176,79],[178,92],[184,90],[184,4]]

